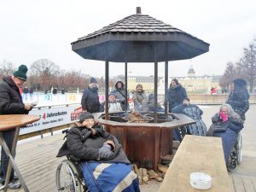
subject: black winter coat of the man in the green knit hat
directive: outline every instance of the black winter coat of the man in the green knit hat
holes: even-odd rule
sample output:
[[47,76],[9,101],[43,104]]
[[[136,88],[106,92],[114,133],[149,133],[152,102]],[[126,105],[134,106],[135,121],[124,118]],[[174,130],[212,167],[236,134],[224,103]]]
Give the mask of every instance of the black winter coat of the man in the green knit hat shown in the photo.
[[4,77],[0,83],[0,114],[27,114],[20,90],[11,77]]

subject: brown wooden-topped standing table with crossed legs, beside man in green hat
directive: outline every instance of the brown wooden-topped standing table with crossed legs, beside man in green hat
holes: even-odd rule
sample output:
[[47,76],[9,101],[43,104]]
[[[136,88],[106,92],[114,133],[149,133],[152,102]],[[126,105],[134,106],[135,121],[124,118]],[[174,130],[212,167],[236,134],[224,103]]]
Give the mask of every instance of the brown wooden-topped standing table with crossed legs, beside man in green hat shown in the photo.
[[[23,178],[20,175],[20,171],[18,167],[15,164],[15,150],[18,142],[18,137],[20,133],[20,127],[21,126],[26,126],[27,124],[31,124],[35,121],[40,119],[39,116],[35,115],[28,115],[28,114],[7,114],[7,115],[0,115],[0,144],[3,147],[4,152],[9,156],[9,166],[7,169],[6,173],[6,178],[5,178],[5,185],[3,191],[7,191],[8,189],[8,184],[9,184],[9,177],[11,173],[11,167],[15,170],[15,173],[17,177],[20,180],[20,184],[24,191],[28,192],[29,190],[26,187],[26,183],[24,182]],[[11,152],[9,151],[9,148],[7,144],[5,143],[5,140],[3,138],[3,133],[2,131],[9,131],[9,130],[14,130],[15,129],[15,137],[14,137],[14,142],[12,145]]]

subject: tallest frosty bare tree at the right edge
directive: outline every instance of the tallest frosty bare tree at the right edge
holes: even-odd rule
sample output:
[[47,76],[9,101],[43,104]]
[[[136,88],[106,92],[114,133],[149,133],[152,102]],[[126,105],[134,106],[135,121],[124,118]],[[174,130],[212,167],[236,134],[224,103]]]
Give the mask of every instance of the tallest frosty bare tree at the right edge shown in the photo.
[[248,48],[243,49],[243,56],[237,63],[239,75],[247,79],[250,85],[250,92],[253,92],[254,83],[256,80],[256,45],[255,40],[249,44]]

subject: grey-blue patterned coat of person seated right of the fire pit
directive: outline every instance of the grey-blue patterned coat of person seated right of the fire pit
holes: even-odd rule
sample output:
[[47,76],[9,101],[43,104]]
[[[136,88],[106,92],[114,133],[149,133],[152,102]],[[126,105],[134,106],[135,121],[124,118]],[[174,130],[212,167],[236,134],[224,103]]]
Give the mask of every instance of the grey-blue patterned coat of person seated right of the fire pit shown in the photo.
[[183,113],[195,120],[195,124],[186,125],[189,129],[189,133],[196,136],[207,135],[207,125],[202,121],[202,110],[194,104],[183,105],[179,104],[176,108],[172,109],[172,113]]

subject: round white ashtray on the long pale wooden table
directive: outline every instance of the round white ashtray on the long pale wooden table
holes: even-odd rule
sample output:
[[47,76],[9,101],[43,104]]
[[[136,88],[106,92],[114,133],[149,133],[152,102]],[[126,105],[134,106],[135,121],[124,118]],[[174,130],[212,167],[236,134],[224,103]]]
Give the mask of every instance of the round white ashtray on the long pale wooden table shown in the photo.
[[192,172],[190,173],[190,184],[195,189],[210,189],[212,177],[204,172]]

